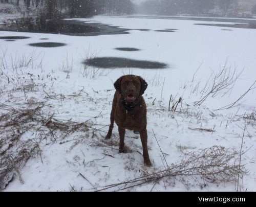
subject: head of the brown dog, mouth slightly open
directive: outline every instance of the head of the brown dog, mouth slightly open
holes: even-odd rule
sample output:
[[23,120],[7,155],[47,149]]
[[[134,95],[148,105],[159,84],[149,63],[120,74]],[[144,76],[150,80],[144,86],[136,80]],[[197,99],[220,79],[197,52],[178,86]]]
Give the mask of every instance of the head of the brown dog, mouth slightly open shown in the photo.
[[126,75],[118,78],[114,86],[125,101],[134,102],[144,94],[147,83],[140,76]]

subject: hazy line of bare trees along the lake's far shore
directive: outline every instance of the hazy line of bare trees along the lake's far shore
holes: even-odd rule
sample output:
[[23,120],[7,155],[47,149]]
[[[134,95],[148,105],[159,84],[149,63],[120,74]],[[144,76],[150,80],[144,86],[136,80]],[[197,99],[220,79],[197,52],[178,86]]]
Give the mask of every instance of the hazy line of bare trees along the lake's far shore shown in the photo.
[[[45,9],[47,16],[65,13],[70,17],[98,14],[156,14],[192,16],[237,16],[238,0],[0,0],[28,10]],[[252,8],[256,13],[256,5]]]

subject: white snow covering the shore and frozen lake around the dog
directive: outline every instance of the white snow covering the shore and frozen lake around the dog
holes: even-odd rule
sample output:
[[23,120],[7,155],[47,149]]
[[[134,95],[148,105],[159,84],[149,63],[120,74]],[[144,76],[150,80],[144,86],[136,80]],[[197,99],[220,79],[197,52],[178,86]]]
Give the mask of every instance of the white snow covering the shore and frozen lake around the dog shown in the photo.
[[[207,180],[200,173],[197,176],[179,174],[135,187],[124,183],[126,185],[107,190],[126,187],[126,191],[256,190],[256,98],[253,89],[256,86],[253,85],[256,79],[256,30],[199,26],[194,24],[207,22],[178,19],[95,16],[79,20],[131,30],[130,34],[86,37],[0,31],[0,37],[30,37],[16,41],[0,39],[1,114],[33,108],[34,103],[44,102],[40,114],[46,120],[88,124],[86,130],[65,137],[58,131],[54,133],[55,137],[46,136],[45,139],[38,135],[41,123],[24,130],[20,139],[37,142],[40,155],[31,157],[22,169],[16,169],[16,175],[5,191],[100,190],[172,168],[185,156],[213,146],[238,152],[236,164],[239,165],[241,158],[241,166],[247,170],[243,176],[239,172],[238,183]],[[175,32],[155,31],[165,29],[175,29]],[[28,45],[36,42],[67,45],[57,48]],[[115,48],[137,48],[140,51],[124,52]],[[84,70],[82,61],[87,57],[124,57],[163,62],[168,66],[159,70],[92,67]],[[132,131],[126,130],[125,135],[128,153],[118,153],[116,125],[112,140],[104,140],[115,92],[113,82],[124,74],[139,75],[148,83],[143,97],[147,104],[148,149],[154,163],[151,168],[144,166],[139,136]],[[221,87],[209,93],[213,84]],[[207,93],[209,96],[205,101],[196,104]],[[182,102],[172,111],[180,97]],[[220,108],[222,110],[217,110]],[[0,120],[0,123],[0,129],[4,131],[6,122]],[[5,136],[8,136],[8,131],[0,138]],[[8,144],[0,146],[0,152],[8,148],[6,146]],[[11,147],[14,153],[15,147]]]

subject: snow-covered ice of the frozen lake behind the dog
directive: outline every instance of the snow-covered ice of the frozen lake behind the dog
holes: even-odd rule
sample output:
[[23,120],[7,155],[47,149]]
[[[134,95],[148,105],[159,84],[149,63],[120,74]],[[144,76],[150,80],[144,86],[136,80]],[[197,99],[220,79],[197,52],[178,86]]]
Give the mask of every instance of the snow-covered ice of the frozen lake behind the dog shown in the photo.
[[[200,19],[202,21],[199,21]],[[118,68],[129,67],[130,70],[133,69],[133,64],[127,65],[127,61],[132,62],[132,60],[165,64],[168,66],[165,67],[166,70],[161,70],[159,78],[163,81],[163,77],[166,77],[167,82],[164,87],[171,90],[168,91],[168,96],[169,93],[179,90],[182,87],[181,84],[185,84],[193,77],[199,66],[196,78],[204,82],[207,81],[203,80],[207,74],[211,71],[219,71],[226,63],[230,68],[237,68],[238,72],[244,70],[242,79],[236,84],[237,87],[234,87],[234,91],[241,94],[255,77],[256,50],[253,42],[255,42],[256,30],[237,28],[237,25],[253,25],[254,21],[232,18],[95,16],[88,19],[70,20],[70,24],[66,24],[72,26],[69,30],[67,30],[68,26],[63,27],[62,31],[61,27],[58,27],[59,33],[66,32],[78,36],[2,31],[0,32],[0,41],[1,47],[8,48],[10,53],[12,51],[30,53],[34,50],[44,53],[44,64],[51,70],[59,67],[63,59],[67,58],[73,62],[76,68],[80,68],[81,62],[89,57],[91,59],[101,58],[103,63],[98,65],[104,64],[102,58],[110,57],[110,65]],[[73,28],[72,22],[75,22],[75,27],[79,27],[79,30]],[[60,26],[62,24],[61,21]],[[205,26],[212,24],[214,26]],[[93,29],[91,32],[86,31],[84,33],[86,36],[82,36],[81,25]],[[218,25],[220,27],[216,27]],[[70,31],[72,28],[74,29],[73,33]],[[10,37],[8,38],[8,36]],[[12,36],[21,36],[25,39],[15,40],[15,37]],[[55,46],[58,48],[54,48]],[[138,51],[118,51],[115,48],[135,48]],[[135,62],[134,65],[139,65],[139,63]],[[97,64],[93,65],[97,67]],[[113,75],[117,77],[122,73],[121,71],[115,71]],[[134,72],[139,75],[145,74],[149,79],[159,73],[154,70]],[[178,84],[174,84],[174,80]],[[229,100],[230,97],[226,101]],[[223,101],[225,102],[225,99]],[[255,100],[247,101],[253,104]],[[220,106],[218,101],[215,104]]]

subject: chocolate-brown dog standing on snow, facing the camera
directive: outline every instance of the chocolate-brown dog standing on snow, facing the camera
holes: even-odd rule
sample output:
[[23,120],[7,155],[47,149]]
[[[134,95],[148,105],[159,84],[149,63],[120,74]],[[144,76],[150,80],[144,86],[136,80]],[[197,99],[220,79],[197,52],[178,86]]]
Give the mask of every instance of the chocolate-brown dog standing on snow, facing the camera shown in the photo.
[[146,104],[142,97],[147,83],[139,76],[126,75],[117,79],[114,86],[116,93],[110,115],[111,124],[106,139],[110,139],[115,121],[120,136],[119,152],[124,152],[125,129],[138,131],[143,147],[144,163],[151,166],[147,152]]

